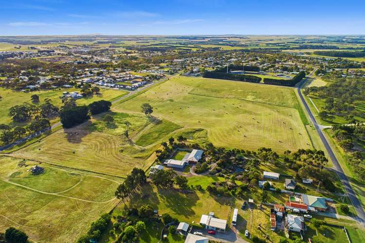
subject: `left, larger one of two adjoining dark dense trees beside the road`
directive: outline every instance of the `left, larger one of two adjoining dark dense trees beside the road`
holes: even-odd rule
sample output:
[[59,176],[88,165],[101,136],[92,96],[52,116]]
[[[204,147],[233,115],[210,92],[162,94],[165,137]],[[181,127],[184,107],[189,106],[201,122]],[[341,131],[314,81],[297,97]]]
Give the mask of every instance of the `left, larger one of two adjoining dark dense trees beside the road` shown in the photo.
[[89,108],[86,105],[76,106],[70,109],[62,109],[60,112],[60,120],[65,128],[73,127],[89,120]]

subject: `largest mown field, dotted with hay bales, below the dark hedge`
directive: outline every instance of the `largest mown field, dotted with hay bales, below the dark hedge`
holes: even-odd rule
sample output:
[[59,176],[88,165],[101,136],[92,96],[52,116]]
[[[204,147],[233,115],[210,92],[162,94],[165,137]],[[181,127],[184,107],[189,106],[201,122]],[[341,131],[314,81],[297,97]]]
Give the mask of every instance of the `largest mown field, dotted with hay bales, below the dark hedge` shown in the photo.
[[204,78],[174,77],[121,102],[113,111],[153,116],[185,128],[207,130],[216,146],[275,151],[310,148],[292,88]]

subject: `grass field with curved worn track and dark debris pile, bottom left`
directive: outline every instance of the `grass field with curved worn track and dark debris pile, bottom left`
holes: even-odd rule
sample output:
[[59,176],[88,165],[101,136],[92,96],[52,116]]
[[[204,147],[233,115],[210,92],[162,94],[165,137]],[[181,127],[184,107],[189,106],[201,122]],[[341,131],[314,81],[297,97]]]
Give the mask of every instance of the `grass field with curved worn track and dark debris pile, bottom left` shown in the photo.
[[[101,213],[118,202],[120,179],[0,157],[0,231],[23,230],[32,242],[75,242]],[[34,165],[45,172],[31,175]]]

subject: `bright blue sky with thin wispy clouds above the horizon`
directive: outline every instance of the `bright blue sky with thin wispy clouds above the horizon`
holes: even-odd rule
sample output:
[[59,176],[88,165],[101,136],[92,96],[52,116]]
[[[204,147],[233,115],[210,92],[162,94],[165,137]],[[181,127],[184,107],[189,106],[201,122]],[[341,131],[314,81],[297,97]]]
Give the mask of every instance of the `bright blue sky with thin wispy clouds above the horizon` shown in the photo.
[[0,0],[0,35],[362,35],[365,0]]

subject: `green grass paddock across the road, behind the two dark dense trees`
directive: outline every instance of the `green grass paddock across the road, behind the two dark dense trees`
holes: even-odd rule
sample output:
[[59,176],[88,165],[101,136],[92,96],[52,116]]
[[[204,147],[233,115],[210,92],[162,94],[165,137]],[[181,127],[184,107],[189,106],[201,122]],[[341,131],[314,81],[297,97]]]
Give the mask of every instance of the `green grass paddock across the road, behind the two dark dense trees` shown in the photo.
[[[39,96],[39,103],[43,103],[45,99],[51,99],[52,103],[56,106],[61,106],[62,101],[59,98],[62,95],[62,92],[72,92],[72,91],[80,91],[76,88],[67,88],[67,89],[58,89],[58,90],[41,90],[41,91],[32,91],[32,92],[22,92],[22,91],[14,91],[11,89],[5,89],[0,87],[0,96],[2,99],[0,100],[0,123],[10,123],[12,120],[9,117],[9,109],[12,106],[23,104],[24,102],[28,102],[32,104],[31,96],[33,94],[37,94]],[[90,104],[94,101],[98,100],[113,100],[118,97],[127,94],[126,91],[117,90],[117,89],[100,89],[99,95],[92,95],[88,98],[81,98],[76,101],[77,104]]]

